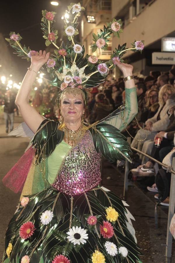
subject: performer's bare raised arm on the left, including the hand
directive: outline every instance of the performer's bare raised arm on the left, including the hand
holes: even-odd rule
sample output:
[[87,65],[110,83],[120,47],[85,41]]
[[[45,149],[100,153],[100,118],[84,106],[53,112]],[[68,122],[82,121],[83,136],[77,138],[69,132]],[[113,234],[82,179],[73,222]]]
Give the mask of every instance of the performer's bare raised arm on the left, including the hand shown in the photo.
[[20,110],[24,122],[31,129],[31,131],[35,133],[43,121],[43,116],[41,116],[34,107],[29,105],[29,96],[37,73],[41,66],[47,62],[49,53],[46,54],[46,51],[42,52],[42,50],[40,50],[39,54],[37,52],[35,55],[34,53],[31,53],[31,55],[31,70],[27,71],[24,79],[22,80],[20,89],[16,96],[15,104]]

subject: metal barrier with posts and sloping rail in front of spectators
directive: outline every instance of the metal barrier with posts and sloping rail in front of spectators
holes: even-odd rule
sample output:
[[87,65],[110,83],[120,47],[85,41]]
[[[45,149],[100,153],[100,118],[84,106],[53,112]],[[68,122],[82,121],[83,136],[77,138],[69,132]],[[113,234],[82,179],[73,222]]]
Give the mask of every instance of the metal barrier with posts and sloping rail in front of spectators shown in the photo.
[[[130,143],[131,138],[128,137],[127,141]],[[136,148],[131,147],[132,150],[136,151],[137,153],[140,153],[142,155],[145,155],[146,157],[148,157],[150,160],[153,160],[154,162],[157,162],[158,164],[160,164],[161,166],[169,169],[170,167],[168,167],[167,165],[164,165],[162,162],[159,162],[157,160],[155,160],[153,157],[149,156],[146,153],[143,153],[139,150],[137,150]],[[175,209],[175,157],[172,160],[172,169],[169,169],[169,172],[171,172],[171,186],[170,186],[170,195],[169,195],[169,210],[168,210],[168,222],[167,222],[167,239],[166,239],[166,252],[165,252],[165,256],[166,256],[166,263],[170,263],[171,262],[171,250],[172,250],[172,235],[169,231],[169,226],[170,226],[170,222],[171,219],[174,215],[174,209]],[[128,166],[128,161],[126,161],[125,163],[125,181],[124,181],[124,192],[123,192],[123,196],[124,199],[126,198],[127,195],[127,190],[128,190],[128,174],[129,174],[129,166]]]

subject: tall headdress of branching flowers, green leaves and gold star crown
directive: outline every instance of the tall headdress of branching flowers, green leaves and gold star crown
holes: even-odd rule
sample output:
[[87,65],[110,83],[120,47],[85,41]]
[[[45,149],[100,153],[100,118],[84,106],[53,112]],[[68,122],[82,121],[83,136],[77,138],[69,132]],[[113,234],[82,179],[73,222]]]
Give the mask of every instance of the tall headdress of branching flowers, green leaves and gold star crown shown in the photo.
[[[111,34],[120,37],[122,32],[121,19],[115,20],[107,23],[107,27],[104,26],[100,33],[92,34],[94,43],[91,46],[92,53],[97,52],[96,55],[84,55],[84,46],[81,46],[75,41],[75,36],[78,34],[78,17],[81,15],[81,11],[85,10],[80,3],[71,3],[68,6],[66,13],[68,14],[65,18],[64,35],[68,38],[68,44],[65,45],[62,42],[61,46],[57,46],[58,31],[54,30],[54,17],[55,12],[48,12],[47,10],[42,11],[42,31],[43,38],[45,39],[46,46],[52,44],[55,46],[54,55],[51,55],[47,63],[41,68],[41,71],[45,74],[44,77],[48,82],[60,88],[58,94],[58,101],[60,101],[60,96],[62,92],[66,89],[70,93],[84,94],[84,101],[87,99],[86,88],[91,88],[104,82],[105,77],[108,74],[110,68],[115,67],[115,61],[122,62],[122,55],[126,53],[127,50],[140,51],[142,52],[144,47],[144,41],[134,41],[132,43],[132,48],[126,48],[126,43],[122,46],[115,48],[111,59],[107,62],[103,62],[98,59],[97,51],[98,49],[107,50],[108,41]],[[31,53],[36,52],[27,48],[25,45],[20,44],[22,37],[20,34],[15,32],[10,32],[10,38],[6,40],[10,43],[17,56],[22,56],[28,61],[31,58]]]

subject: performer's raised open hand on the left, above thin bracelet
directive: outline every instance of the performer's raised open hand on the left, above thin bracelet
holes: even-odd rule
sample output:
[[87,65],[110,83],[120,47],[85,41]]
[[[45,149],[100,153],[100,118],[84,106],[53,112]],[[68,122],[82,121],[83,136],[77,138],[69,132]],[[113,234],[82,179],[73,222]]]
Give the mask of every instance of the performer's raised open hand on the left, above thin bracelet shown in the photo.
[[50,52],[48,52],[46,54],[46,51],[44,50],[42,52],[42,50],[38,52],[36,52],[36,54],[34,54],[34,52],[31,53],[31,69],[33,70],[39,70],[49,59],[49,55]]

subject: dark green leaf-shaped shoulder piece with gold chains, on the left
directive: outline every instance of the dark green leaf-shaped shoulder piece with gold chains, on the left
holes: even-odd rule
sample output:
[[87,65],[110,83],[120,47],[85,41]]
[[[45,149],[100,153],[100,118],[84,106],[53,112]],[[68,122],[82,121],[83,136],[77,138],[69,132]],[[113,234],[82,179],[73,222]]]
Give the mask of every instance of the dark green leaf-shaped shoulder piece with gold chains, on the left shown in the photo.
[[58,125],[59,122],[49,119],[41,122],[31,141],[36,148],[37,162],[41,162],[41,160],[51,155],[57,144],[63,140],[64,132],[58,130]]

